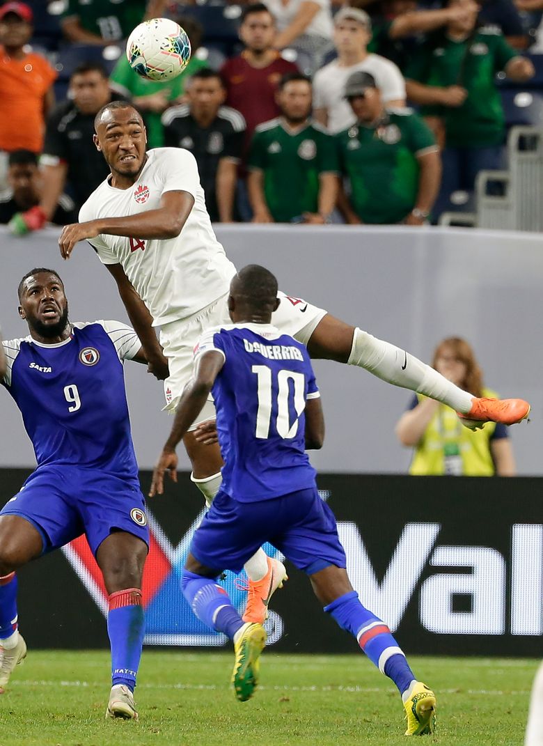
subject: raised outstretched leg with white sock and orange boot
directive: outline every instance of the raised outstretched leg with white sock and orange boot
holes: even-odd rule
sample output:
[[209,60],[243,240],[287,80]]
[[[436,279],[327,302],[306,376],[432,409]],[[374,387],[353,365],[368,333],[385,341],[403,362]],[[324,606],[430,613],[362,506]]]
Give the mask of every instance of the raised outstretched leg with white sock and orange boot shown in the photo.
[[463,424],[485,421],[515,424],[526,419],[530,405],[522,399],[476,398],[462,391],[426,363],[389,342],[377,339],[358,327],[324,316],[307,342],[311,357],[359,366],[378,378],[448,404],[467,416]]

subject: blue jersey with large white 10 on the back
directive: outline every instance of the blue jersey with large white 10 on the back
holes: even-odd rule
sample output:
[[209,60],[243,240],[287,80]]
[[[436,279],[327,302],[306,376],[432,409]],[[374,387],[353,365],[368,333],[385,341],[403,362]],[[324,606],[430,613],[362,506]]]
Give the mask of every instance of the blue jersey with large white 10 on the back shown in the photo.
[[213,385],[221,489],[253,502],[315,486],[304,410],[319,392],[304,345],[271,325],[234,324],[204,333],[195,357],[210,350],[225,357]]

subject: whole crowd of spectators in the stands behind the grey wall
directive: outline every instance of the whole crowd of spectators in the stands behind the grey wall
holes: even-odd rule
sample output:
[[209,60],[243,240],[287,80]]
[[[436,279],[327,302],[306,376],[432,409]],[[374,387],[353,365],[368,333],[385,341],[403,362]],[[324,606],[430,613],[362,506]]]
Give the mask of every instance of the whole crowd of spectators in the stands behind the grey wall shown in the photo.
[[[119,98],[149,148],[192,151],[217,222],[424,225],[457,209],[505,165],[503,86],[538,95],[543,0],[351,3],[4,3],[0,221],[24,235],[77,212],[107,176],[95,113]],[[124,54],[156,16],[192,43],[164,83]]]

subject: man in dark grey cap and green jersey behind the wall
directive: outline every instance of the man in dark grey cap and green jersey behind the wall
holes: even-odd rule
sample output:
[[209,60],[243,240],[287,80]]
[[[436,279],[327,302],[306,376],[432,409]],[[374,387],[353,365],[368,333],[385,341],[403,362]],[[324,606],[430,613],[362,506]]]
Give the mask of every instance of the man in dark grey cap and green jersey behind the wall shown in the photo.
[[410,109],[389,109],[375,78],[354,72],[345,98],[357,122],[336,135],[338,207],[348,223],[423,225],[439,192],[441,160],[430,129]]

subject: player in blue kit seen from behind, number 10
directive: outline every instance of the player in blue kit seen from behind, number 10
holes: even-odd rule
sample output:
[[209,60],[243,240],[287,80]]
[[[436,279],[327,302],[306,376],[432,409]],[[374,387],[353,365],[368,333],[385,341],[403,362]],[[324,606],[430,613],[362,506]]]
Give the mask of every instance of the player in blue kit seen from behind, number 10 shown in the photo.
[[[244,622],[215,581],[239,572],[271,542],[310,577],[318,601],[400,691],[406,736],[432,733],[436,697],[412,673],[386,624],[358,599],[345,570],[336,519],[319,498],[305,448],[321,448],[324,419],[307,349],[271,325],[277,280],[250,265],[230,285],[233,325],[210,330],[195,350],[195,371],[175,415],[172,433],[154,470],[175,477],[175,448],[213,392],[216,430],[225,466],[222,486],[195,531],[183,571],[183,594],[209,627],[233,640],[233,686],[245,701],[257,685],[262,624]],[[269,598],[265,598],[267,603]]]

